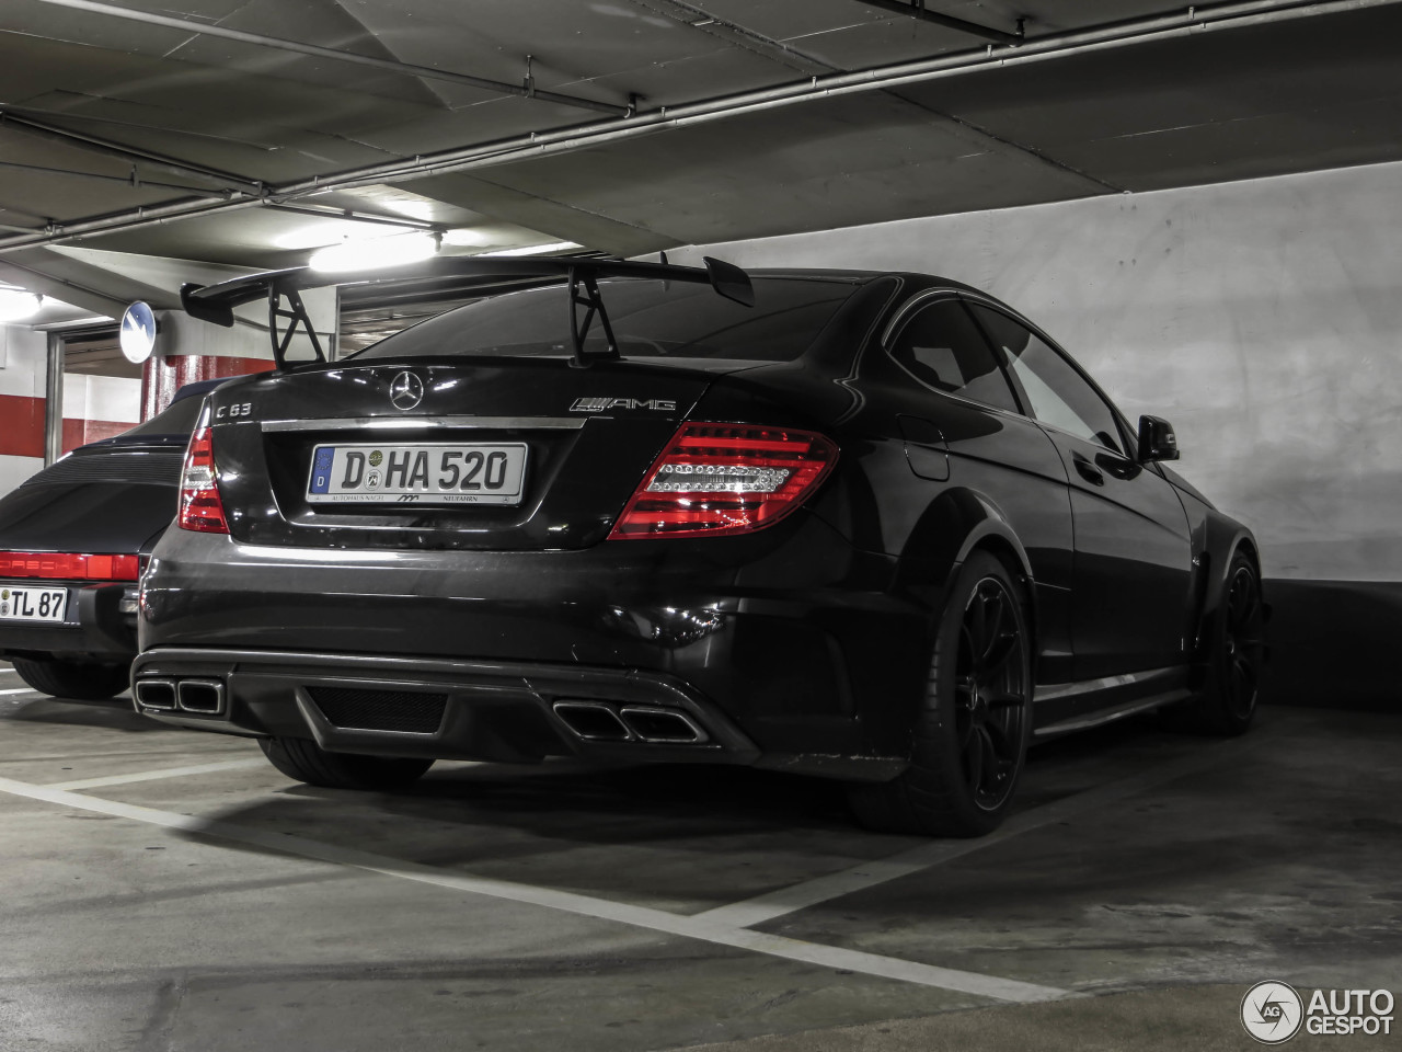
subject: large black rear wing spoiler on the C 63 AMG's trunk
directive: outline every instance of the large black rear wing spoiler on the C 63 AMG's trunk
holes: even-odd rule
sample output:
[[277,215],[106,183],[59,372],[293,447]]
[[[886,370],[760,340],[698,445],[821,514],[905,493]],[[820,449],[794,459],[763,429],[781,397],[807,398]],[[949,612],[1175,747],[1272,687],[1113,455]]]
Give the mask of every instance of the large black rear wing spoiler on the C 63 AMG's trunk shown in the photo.
[[[294,267],[286,271],[265,271],[247,278],[234,278],[219,285],[182,285],[179,302],[185,313],[200,321],[209,321],[226,328],[234,324],[234,307],[266,300],[268,335],[272,339],[272,355],[278,367],[286,367],[287,346],[297,330],[303,330],[311,341],[317,362],[327,360],[321,341],[311,325],[307,309],[301,303],[303,289],[318,289],[329,285],[383,285],[388,282],[422,281],[435,278],[481,278],[488,283],[510,281],[561,279],[569,282],[569,335],[575,348],[575,360],[587,365],[590,358],[617,358],[618,342],[603,297],[599,295],[600,278],[651,278],[653,281],[691,282],[709,285],[721,296],[746,307],[754,306],[754,286],[750,275],[733,264],[705,257],[705,268],[677,267],[673,264],[632,262],[628,259],[482,259],[446,258],[429,259],[412,267],[397,267],[391,272],[373,274],[325,274],[310,267]],[[604,332],[607,351],[585,353],[585,338],[597,318]]]

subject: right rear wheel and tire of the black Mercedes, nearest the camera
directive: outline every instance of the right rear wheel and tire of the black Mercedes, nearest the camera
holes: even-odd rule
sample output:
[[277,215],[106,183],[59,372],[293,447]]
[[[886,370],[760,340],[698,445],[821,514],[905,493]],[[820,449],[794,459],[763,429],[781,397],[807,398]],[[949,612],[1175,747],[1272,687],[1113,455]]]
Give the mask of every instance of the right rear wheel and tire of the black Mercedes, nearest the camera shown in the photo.
[[1030,729],[1022,591],[1002,562],[976,551],[939,617],[910,766],[893,781],[852,785],[852,812],[885,833],[990,833],[1016,790]]

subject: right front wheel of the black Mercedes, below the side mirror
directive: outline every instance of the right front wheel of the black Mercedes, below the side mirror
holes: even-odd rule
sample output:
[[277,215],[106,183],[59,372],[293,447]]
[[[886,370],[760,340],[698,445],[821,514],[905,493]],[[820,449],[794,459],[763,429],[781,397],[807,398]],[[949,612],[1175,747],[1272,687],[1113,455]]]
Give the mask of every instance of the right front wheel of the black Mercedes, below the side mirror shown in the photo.
[[1256,715],[1260,669],[1266,661],[1266,607],[1260,572],[1239,548],[1227,568],[1221,606],[1206,640],[1206,676],[1197,694],[1164,713],[1173,729],[1234,736]]

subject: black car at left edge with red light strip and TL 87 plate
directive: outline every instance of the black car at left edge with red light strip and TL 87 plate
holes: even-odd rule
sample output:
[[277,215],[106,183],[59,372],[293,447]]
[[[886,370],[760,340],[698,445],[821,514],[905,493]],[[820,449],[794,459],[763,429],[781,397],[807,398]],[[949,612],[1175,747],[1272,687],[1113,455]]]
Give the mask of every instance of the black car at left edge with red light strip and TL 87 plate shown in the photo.
[[126,690],[136,656],[136,582],[175,518],[181,464],[200,398],[115,438],[79,446],[0,498],[0,658],[57,697]]

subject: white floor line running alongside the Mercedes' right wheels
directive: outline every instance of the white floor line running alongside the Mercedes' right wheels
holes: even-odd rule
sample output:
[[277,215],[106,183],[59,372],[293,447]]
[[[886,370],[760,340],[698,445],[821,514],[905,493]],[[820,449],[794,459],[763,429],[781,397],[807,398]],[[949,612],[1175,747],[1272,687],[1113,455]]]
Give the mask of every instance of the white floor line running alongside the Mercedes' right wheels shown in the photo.
[[899,854],[893,854],[886,858],[862,863],[861,865],[854,865],[848,870],[833,872],[826,877],[817,877],[816,879],[805,881],[803,884],[791,884],[787,888],[777,888],[771,892],[765,892],[764,895],[757,895],[753,899],[732,902],[726,906],[716,906],[715,909],[708,909],[694,916],[698,920],[716,920],[735,927],[751,927],[767,920],[775,920],[777,917],[796,913],[798,910],[808,909],[809,906],[816,906],[820,902],[840,899],[844,895],[875,888],[878,884],[886,884],[887,881],[908,877],[913,872],[920,872],[921,870],[928,870],[934,865],[962,858],[966,854],[981,851],[986,847],[993,847],[994,844],[1000,844],[1004,840],[1021,833],[1040,829],[1052,825],[1053,822],[1061,822],[1085,811],[1119,802],[1120,800],[1134,795],[1136,793],[1141,793],[1143,790],[1161,785],[1166,781],[1173,781],[1187,774],[1195,774],[1204,767],[1216,764],[1223,757],[1235,756],[1249,748],[1255,741],[1256,738],[1238,738],[1230,742],[1211,745],[1204,749],[1197,749],[1189,756],[1182,756],[1176,760],[1159,764],[1158,767],[1151,767],[1140,774],[1131,774],[1127,778],[1120,778],[1119,781],[1112,781],[1106,785],[1099,785],[1092,790],[1085,790],[1084,793],[1063,797],[1061,800],[1052,801],[1050,804],[1043,804],[1042,807],[1015,815],[1000,829],[988,833],[987,836],[979,837],[977,840],[931,840],[928,844],[920,844],[908,851],[900,851]]

